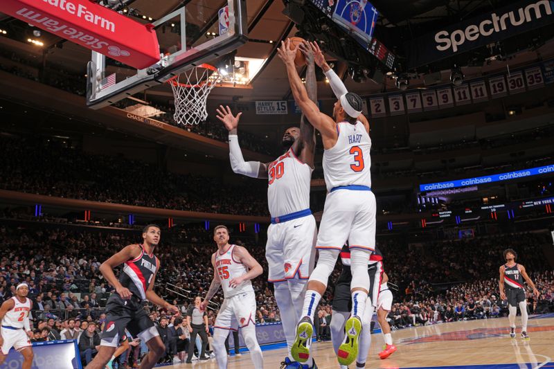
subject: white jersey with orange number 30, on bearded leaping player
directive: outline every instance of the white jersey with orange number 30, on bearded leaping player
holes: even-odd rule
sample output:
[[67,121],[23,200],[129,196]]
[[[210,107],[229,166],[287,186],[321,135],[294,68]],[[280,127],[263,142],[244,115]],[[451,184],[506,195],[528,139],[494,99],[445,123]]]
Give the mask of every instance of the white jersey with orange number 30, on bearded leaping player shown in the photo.
[[312,168],[289,149],[267,167],[267,205],[271,217],[310,208]]

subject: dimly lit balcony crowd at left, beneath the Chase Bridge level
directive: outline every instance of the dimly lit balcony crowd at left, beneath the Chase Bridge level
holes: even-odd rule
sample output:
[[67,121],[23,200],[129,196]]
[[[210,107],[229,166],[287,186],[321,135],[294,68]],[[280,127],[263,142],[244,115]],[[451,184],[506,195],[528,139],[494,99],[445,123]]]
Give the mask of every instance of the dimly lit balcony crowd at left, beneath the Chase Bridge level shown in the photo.
[[0,156],[0,188],[5,190],[150,208],[269,215],[265,183],[244,176],[224,184],[123,157],[86,154],[43,138],[1,137]]

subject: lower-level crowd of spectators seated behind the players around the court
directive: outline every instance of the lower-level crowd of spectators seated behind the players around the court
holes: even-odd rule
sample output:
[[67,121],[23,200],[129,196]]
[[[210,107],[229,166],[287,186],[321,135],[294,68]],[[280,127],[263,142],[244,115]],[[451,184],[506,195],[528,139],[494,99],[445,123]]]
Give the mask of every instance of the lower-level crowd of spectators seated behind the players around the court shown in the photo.
[[[12,296],[18,282],[28,282],[34,300],[35,340],[78,339],[84,353],[82,359],[87,362],[96,353],[96,335],[105,321],[103,307],[111,292],[111,286],[98,271],[100,262],[126,244],[139,242],[140,235],[134,231],[72,228],[43,224],[17,228],[0,225],[0,300]],[[185,314],[193,298],[203,296],[210,285],[213,270],[207,260],[210,260],[215,245],[210,242],[209,231],[193,227],[185,240],[183,232],[182,229],[179,232],[163,231],[162,243],[156,253],[163,265],[157,278],[157,292],[179,305]],[[391,284],[399,288],[388,316],[393,329],[506,315],[506,302],[499,298],[497,278],[499,265],[503,262],[502,251],[508,247],[519,251],[518,262],[526,266],[540,291],[539,299],[528,298],[530,312],[553,311],[554,273],[542,254],[540,245],[544,242],[548,242],[547,235],[531,233],[410,245],[403,245],[397,239],[379,239],[386,273]],[[280,321],[271,285],[267,283],[262,241],[245,246],[264,269],[264,274],[253,280],[257,300],[256,323]],[[337,278],[341,270],[339,264],[332,279]],[[173,285],[170,289],[167,282]],[[315,322],[316,334],[322,340],[330,336],[333,291],[332,283],[329,285]],[[188,295],[188,298],[175,294],[175,291]],[[220,291],[213,302],[220,304],[222,299]],[[213,309],[208,310],[209,325],[213,325],[217,314],[217,305],[211,307]],[[183,361],[186,357],[186,321],[176,322],[175,316],[155,307],[150,307],[150,312],[152,320],[167,337],[167,355],[163,360]],[[141,349],[141,343],[131,338],[129,350],[121,362],[132,366],[140,360],[143,352],[145,348]]]

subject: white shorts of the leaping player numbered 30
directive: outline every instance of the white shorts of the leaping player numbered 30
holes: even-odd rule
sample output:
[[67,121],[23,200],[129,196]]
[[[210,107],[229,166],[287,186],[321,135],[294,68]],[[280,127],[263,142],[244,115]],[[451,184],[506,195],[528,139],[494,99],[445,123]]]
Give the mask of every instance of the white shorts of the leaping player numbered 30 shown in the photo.
[[267,280],[276,283],[292,278],[310,278],[314,269],[316,237],[313,215],[271,224],[265,246],[265,258],[269,264]]

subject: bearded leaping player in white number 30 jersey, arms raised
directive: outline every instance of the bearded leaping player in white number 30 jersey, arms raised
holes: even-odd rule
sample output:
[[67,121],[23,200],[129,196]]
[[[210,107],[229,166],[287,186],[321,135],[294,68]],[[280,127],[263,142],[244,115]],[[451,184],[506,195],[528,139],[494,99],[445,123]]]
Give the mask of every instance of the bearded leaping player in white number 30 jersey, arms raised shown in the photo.
[[[316,77],[313,53],[307,53],[305,85],[308,96],[316,100]],[[287,151],[271,163],[245,162],[238,145],[237,127],[240,115],[233,116],[229,107],[217,109],[219,118],[229,129],[229,156],[233,172],[268,180],[267,203],[271,225],[267,229],[265,257],[269,264],[269,282],[283,322],[289,357],[285,368],[314,368],[312,359],[304,366],[290,360],[296,323],[302,317],[305,285],[313,269],[317,237],[316,221],[310,211],[310,181],[314,169],[314,127],[302,116],[300,127],[291,127],[283,135]]]

